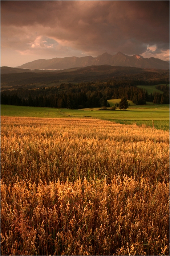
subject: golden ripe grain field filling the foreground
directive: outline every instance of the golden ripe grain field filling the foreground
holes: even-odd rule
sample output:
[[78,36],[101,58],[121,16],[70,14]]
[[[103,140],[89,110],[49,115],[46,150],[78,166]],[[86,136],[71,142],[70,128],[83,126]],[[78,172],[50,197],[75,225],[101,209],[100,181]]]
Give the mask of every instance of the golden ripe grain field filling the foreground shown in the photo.
[[169,255],[169,132],[1,117],[1,255]]

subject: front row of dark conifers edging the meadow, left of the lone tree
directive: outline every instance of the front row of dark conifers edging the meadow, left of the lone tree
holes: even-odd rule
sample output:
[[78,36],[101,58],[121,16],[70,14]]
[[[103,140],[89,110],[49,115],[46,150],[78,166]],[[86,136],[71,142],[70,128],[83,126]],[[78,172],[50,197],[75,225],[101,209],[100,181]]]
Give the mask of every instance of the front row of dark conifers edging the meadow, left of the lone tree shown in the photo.
[[57,90],[55,92],[54,89],[24,90],[24,95],[27,94],[28,97],[21,96],[22,90],[8,91],[8,93],[6,91],[1,93],[1,104],[69,109],[109,106],[101,90],[88,92]]

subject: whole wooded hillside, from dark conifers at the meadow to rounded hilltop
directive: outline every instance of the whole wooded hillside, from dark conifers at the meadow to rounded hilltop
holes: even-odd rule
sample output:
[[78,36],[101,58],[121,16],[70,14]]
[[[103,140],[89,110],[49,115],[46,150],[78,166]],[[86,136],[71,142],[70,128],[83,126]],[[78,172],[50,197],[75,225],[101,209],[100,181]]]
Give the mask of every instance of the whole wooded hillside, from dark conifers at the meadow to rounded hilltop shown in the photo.
[[[162,84],[162,85],[161,85]],[[109,106],[107,100],[126,97],[136,105],[169,103],[169,72],[109,65],[54,73],[1,75],[1,104],[52,108]],[[148,94],[137,85],[159,85]]]

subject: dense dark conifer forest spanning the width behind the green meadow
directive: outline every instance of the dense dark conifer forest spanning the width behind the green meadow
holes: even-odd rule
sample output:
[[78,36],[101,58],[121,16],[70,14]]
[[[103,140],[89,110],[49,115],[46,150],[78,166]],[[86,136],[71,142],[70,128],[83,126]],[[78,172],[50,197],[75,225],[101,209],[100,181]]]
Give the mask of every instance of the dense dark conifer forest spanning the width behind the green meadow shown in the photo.
[[148,94],[138,88],[134,81],[82,82],[34,89],[19,88],[1,92],[1,104],[40,106],[51,108],[81,109],[109,107],[107,100],[126,97],[136,105],[151,101],[155,104],[169,104],[169,86],[158,85],[163,93]]

